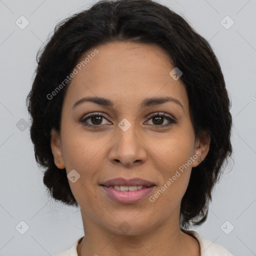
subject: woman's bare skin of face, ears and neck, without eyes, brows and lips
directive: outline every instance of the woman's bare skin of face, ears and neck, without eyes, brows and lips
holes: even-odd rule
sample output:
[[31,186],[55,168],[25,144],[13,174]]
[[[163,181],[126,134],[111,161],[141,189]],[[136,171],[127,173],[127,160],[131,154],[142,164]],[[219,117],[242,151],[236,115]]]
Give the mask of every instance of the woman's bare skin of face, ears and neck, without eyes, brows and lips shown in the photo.
[[[78,255],[200,255],[197,239],[179,228],[179,212],[191,168],[206,156],[210,137],[194,136],[185,86],[169,75],[172,60],[149,44],[110,42],[95,48],[98,53],[67,88],[60,132],[51,132],[56,166],[67,174],[75,169],[80,175],[74,183],[68,179],[85,232]],[[85,96],[110,99],[114,107],[86,101],[72,109]],[[140,108],[144,98],[153,96],[176,98],[183,108],[175,102]],[[104,117],[79,121],[93,112]],[[148,117],[157,112],[174,117],[176,123],[161,127],[169,121]],[[131,124],[126,131],[118,126],[123,118]],[[86,122],[101,127],[87,127]],[[196,152],[200,156],[154,202],[146,197],[136,203],[118,203],[99,186],[111,178],[140,177],[156,184],[153,195]],[[118,228],[123,221],[130,227],[126,233]]]

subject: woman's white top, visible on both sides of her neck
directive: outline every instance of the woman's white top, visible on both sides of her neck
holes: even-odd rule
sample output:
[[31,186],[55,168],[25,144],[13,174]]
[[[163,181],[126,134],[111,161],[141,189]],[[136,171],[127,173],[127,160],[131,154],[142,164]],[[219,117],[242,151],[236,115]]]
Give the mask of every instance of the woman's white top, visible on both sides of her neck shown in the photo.
[[[234,256],[222,245],[216,244],[202,238],[197,232],[192,230],[185,230],[186,233],[195,237],[200,244],[201,256]],[[55,256],[78,256],[76,247],[82,240],[83,236],[80,237],[69,249],[66,249]]]

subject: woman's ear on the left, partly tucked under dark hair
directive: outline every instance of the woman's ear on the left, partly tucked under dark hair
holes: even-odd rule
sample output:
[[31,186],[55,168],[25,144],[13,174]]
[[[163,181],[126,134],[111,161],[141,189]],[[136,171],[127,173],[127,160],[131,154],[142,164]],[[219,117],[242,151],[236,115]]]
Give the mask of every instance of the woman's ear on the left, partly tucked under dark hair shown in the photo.
[[51,147],[51,152],[54,156],[55,165],[59,169],[65,168],[59,132],[57,132],[55,129],[51,129],[50,131],[50,147]]

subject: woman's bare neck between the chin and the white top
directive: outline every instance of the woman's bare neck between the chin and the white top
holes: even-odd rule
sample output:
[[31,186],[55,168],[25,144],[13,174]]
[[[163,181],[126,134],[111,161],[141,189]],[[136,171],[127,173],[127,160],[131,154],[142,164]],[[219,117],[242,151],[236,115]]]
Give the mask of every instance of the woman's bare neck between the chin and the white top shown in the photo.
[[[118,234],[102,228],[91,219],[83,217],[85,235],[77,246],[78,256],[87,255],[161,255],[199,256],[200,247],[197,239],[185,234],[177,225],[162,223],[144,233]],[[89,221],[90,220],[90,221]]]

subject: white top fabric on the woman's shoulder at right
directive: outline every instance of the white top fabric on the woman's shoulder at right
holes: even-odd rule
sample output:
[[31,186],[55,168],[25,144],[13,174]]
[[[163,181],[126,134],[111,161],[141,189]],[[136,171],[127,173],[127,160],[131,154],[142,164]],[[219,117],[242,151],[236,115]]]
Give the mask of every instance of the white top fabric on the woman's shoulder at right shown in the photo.
[[224,246],[201,237],[193,230],[185,231],[199,241],[201,256],[233,256],[233,254],[231,254],[231,252],[228,251]]

